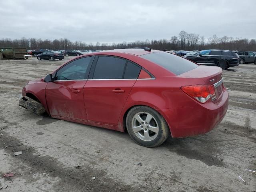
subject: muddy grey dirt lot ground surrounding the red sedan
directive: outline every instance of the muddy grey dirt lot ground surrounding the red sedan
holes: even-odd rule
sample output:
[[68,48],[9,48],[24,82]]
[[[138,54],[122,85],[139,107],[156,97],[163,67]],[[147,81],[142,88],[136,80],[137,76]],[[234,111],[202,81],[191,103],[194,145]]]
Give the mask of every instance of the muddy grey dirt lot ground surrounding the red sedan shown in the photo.
[[[18,106],[27,80],[63,62],[0,60],[1,192],[256,191],[256,172],[248,171],[256,170],[256,65],[224,71],[230,106],[214,130],[144,148],[128,133],[37,116]],[[14,156],[20,150],[23,155]],[[15,176],[4,178],[8,172]]]

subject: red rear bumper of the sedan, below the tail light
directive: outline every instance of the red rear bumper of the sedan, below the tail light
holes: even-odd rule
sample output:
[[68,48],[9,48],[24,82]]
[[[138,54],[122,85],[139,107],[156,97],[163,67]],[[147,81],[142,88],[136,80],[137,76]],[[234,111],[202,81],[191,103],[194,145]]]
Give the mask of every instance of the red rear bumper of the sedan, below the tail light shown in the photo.
[[228,91],[224,88],[220,102],[198,103],[192,108],[164,109],[159,112],[169,125],[173,138],[204,134],[224,118],[228,110]]

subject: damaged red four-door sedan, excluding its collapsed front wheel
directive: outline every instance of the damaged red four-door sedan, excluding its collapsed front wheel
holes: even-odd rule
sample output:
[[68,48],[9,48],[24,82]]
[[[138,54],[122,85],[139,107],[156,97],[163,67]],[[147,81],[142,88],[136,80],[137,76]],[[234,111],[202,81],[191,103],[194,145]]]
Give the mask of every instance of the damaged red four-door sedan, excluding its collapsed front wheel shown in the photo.
[[124,132],[146,147],[204,134],[224,118],[222,70],[168,52],[120,49],[69,60],[22,90],[52,118]]

